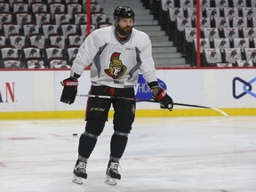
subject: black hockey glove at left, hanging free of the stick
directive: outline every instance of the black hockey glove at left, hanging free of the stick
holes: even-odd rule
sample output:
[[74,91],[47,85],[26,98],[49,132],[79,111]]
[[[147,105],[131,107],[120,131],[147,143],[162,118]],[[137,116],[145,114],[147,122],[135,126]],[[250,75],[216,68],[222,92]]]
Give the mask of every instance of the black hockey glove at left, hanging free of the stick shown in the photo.
[[60,82],[63,87],[63,91],[60,97],[60,101],[67,103],[67,104],[72,104],[75,99],[76,99],[76,93],[77,93],[77,86],[78,86],[78,81],[76,78],[69,77],[67,79],[64,79],[62,82]]

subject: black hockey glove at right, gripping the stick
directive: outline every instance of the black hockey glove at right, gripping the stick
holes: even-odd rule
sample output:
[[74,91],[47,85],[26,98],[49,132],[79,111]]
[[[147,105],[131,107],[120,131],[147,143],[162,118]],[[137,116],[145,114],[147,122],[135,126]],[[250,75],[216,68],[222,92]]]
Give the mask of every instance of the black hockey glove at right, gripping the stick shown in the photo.
[[163,88],[159,87],[159,91],[156,93],[156,95],[153,94],[152,98],[160,102],[160,108],[168,108],[170,111],[172,111],[172,98],[167,94],[167,92]]

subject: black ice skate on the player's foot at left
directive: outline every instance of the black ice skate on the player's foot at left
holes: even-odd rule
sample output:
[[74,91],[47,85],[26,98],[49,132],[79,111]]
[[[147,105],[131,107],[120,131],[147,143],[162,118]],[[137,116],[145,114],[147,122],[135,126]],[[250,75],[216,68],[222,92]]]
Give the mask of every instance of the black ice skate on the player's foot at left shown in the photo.
[[74,168],[74,177],[73,177],[73,182],[79,185],[83,184],[83,179],[87,178],[87,173],[86,173],[86,162],[82,162],[80,160],[76,161],[76,166]]

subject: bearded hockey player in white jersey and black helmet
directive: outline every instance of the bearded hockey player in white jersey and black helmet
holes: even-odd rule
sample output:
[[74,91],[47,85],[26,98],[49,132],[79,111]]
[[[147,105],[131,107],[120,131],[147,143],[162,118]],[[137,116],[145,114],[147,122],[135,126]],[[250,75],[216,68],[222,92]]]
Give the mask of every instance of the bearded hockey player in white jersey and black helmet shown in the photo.
[[[118,6],[114,12],[115,26],[100,28],[84,40],[73,62],[70,76],[63,80],[60,101],[72,104],[76,98],[78,78],[91,66],[90,94],[134,98],[139,70],[152,90],[152,97],[164,108],[172,110],[172,98],[158,85],[148,35],[133,28],[134,12],[128,6]],[[135,116],[135,101],[89,98],[86,107],[85,131],[78,145],[78,159],[73,182],[82,184],[87,178],[86,165],[100,133],[108,121],[110,106],[115,110],[114,133],[110,141],[110,156],[106,183],[116,185],[121,179],[119,161],[126,148]]]

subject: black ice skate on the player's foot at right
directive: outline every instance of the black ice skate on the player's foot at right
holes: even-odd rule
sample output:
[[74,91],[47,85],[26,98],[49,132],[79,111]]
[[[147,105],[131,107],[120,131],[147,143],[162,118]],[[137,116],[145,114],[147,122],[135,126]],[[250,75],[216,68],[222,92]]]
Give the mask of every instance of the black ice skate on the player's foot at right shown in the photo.
[[107,178],[105,180],[105,183],[108,185],[116,185],[116,180],[121,180],[121,175],[118,172],[118,166],[119,163],[116,162],[108,162],[108,169],[107,169]]

